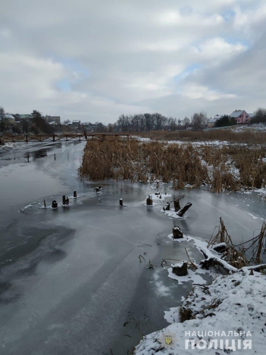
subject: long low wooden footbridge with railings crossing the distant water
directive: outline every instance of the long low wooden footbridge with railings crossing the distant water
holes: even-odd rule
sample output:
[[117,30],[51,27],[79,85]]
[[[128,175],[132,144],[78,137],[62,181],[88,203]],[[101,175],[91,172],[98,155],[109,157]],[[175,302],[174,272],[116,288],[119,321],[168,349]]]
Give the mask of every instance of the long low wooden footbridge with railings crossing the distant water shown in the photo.
[[35,135],[0,135],[0,144],[17,142],[55,142],[55,141],[83,141],[83,140],[129,140],[130,134],[123,133],[74,133],[74,134],[35,134]]

